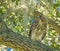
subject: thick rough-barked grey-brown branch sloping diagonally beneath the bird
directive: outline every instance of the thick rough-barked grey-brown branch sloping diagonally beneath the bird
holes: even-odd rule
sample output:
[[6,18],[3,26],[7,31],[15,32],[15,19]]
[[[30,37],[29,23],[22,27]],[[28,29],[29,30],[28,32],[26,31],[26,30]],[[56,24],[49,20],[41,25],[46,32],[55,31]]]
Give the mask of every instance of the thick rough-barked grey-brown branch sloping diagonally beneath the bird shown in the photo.
[[0,21],[0,44],[19,51],[59,51],[40,42],[33,41],[26,36],[13,32],[4,22]]

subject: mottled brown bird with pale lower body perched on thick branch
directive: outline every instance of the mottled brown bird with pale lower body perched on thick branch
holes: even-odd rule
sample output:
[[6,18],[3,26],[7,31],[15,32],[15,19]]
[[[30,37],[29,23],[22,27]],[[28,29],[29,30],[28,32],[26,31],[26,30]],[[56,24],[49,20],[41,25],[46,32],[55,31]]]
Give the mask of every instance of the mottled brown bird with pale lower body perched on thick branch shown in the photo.
[[[34,12],[35,19],[32,21],[29,30],[29,38],[41,42],[46,36],[47,23],[44,15],[38,11]],[[37,15],[38,14],[38,15]]]

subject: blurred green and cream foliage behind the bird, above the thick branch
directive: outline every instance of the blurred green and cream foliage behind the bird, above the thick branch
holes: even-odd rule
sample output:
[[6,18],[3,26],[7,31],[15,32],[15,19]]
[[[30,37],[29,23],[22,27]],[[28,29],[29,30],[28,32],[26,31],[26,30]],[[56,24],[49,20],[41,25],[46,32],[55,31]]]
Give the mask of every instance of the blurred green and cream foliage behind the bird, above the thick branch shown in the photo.
[[[10,29],[23,36],[28,37],[34,10],[43,13],[60,26],[60,0],[0,0],[0,17]],[[48,25],[46,37],[42,42],[60,49],[60,33]]]

